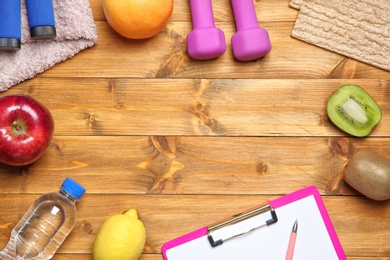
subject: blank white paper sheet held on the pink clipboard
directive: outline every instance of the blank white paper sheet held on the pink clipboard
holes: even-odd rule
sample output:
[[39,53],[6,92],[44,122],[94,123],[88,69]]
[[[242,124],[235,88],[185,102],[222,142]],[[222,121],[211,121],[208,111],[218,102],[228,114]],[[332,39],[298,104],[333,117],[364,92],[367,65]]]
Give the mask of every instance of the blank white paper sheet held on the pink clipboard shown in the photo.
[[[167,250],[169,260],[278,260],[285,259],[292,226],[298,220],[294,260],[337,260],[315,198],[310,195],[275,209],[278,222],[212,247],[207,236]],[[213,233],[214,240],[250,230],[270,218],[252,217]]]

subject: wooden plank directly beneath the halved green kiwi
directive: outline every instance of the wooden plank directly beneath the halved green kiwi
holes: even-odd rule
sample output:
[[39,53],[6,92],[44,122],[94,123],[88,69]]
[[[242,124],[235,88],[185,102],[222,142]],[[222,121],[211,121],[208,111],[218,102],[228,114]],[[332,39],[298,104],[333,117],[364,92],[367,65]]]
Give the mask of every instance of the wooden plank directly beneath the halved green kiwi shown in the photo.
[[348,83],[382,109],[370,136],[388,137],[388,80],[35,78],[0,96],[41,101],[56,135],[347,136],[328,119],[326,101]]

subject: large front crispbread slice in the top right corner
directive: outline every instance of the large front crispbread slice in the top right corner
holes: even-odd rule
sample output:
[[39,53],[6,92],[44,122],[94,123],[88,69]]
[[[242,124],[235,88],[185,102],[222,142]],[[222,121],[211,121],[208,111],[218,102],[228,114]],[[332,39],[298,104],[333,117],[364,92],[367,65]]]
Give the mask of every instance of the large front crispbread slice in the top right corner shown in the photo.
[[390,71],[390,0],[304,0],[291,36]]

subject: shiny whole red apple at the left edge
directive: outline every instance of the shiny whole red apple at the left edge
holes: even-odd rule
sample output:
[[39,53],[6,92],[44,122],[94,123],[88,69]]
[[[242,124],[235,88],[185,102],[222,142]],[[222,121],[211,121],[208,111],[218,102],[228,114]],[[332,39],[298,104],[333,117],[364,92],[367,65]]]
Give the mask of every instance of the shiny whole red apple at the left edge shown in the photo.
[[0,162],[13,166],[38,160],[54,132],[50,111],[25,95],[0,97]]

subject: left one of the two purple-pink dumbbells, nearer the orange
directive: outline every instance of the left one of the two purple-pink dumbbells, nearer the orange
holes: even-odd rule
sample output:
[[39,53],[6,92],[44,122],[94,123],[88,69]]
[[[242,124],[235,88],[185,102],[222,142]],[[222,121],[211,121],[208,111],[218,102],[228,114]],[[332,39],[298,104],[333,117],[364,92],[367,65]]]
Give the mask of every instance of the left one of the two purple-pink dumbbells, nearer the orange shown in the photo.
[[197,60],[214,59],[226,50],[225,35],[215,27],[211,0],[190,0],[193,31],[187,35],[188,54]]

